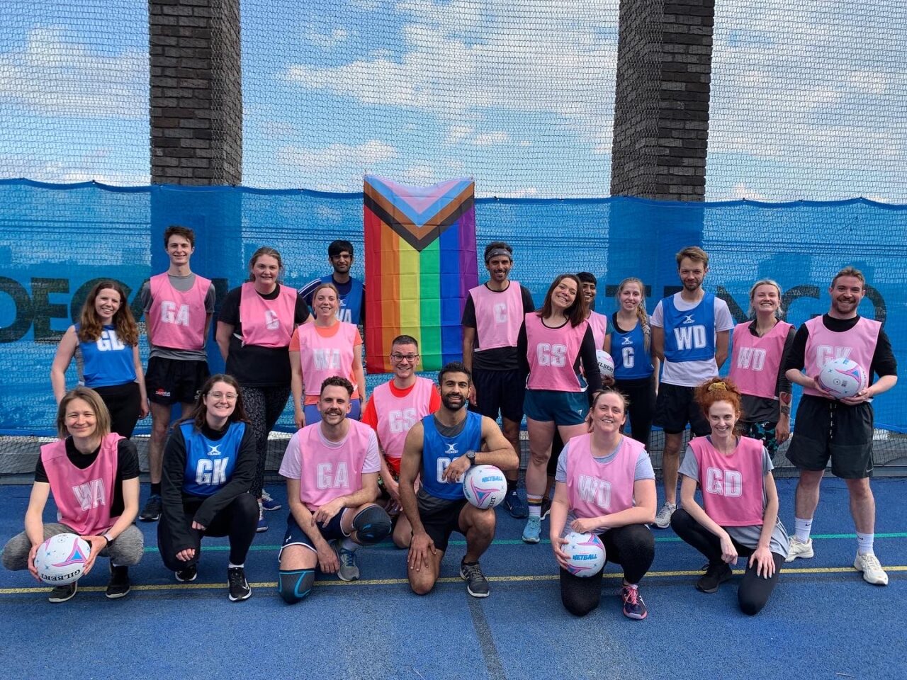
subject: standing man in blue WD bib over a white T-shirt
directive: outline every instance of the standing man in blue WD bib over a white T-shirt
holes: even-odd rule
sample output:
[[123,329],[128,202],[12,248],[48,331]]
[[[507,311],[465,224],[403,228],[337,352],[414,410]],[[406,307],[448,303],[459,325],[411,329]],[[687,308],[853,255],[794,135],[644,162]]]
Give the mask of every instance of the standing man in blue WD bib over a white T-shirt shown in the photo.
[[690,246],[676,258],[683,288],[660,300],[649,319],[652,357],[663,362],[654,419],[665,432],[661,458],[665,502],[655,518],[658,529],[670,526],[671,514],[678,507],[680,447],[687,423],[693,436],[711,432],[706,416],[693,399],[693,388],[717,376],[727,359],[734,327],[727,303],[702,288],[708,273],[706,251]]

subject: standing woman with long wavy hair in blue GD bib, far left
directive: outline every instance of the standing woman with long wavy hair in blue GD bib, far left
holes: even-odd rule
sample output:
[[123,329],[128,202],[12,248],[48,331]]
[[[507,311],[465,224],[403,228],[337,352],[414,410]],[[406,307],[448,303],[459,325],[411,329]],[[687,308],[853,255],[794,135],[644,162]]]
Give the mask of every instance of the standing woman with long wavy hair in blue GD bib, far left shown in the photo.
[[79,384],[90,387],[110,412],[111,430],[129,439],[148,415],[139,358],[139,327],[116,281],[101,281],[85,298],[79,323],[63,334],[51,366],[57,403],[66,394],[66,371],[76,358]]

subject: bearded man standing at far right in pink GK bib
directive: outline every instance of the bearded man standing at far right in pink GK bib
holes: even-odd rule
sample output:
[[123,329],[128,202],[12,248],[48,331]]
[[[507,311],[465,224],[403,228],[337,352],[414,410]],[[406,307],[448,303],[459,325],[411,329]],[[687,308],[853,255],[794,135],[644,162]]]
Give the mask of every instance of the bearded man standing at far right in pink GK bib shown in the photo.
[[[809,538],[819,484],[828,460],[832,472],[847,484],[850,509],[856,524],[857,555],[853,568],[877,586],[888,585],[888,575],[873,553],[875,500],[869,486],[873,471],[873,397],[897,383],[897,362],[882,324],[857,314],[866,294],[866,279],[859,269],[844,267],[828,289],[832,306],[827,314],[801,325],[787,359],[786,375],[802,385],[796,412],[796,431],[787,458],[800,469],[796,487],[795,535],[787,561],[811,558]],[[846,356],[863,366],[869,386],[852,397],[834,399],[818,382],[824,364]],[[805,374],[801,371],[805,369]],[[879,380],[873,383],[873,374]]]

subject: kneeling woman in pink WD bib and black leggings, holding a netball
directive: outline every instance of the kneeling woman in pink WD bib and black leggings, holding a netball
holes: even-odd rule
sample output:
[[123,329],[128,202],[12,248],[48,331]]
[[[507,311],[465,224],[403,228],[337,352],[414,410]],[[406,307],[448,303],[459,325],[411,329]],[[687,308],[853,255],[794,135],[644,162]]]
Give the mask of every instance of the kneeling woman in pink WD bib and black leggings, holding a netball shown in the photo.
[[564,444],[551,502],[551,549],[561,567],[561,601],[583,617],[599,606],[603,569],[591,577],[567,569],[563,546],[569,531],[598,534],[607,559],[623,568],[624,616],[643,619],[646,603],[639,581],[655,559],[657,492],[649,453],[640,442],[620,433],[627,419],[627,399],[610,388],[592,395],[589,432]]

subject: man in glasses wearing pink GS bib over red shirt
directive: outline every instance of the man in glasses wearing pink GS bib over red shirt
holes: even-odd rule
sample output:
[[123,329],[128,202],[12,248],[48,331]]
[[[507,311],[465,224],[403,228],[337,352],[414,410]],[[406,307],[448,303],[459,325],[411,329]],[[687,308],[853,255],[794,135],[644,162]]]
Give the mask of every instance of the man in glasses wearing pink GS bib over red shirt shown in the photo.
[[386,496],[386,508],[395,518],[394,543],[408,548],[412,528],[400,512],[400,458],[406,433],[424,416],[441,406],[441,395],[434,383],[415,374],[419,363],[419,343],[410,335],[398,335],[391,344],[391,367],[394,378],[380,384],[362,413],[361,422],[375,430],[381,457],[381,483]]

